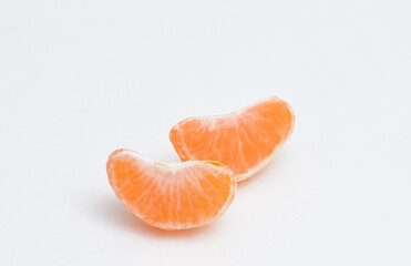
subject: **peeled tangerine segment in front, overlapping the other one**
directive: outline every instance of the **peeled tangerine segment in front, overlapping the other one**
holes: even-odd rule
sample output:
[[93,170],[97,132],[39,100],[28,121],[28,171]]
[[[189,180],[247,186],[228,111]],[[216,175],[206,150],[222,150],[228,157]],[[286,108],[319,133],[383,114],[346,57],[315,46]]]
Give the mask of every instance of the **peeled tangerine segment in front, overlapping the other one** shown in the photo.
[[110,155],[107,175],[130,212],[169,231],[217,219],[233,202],[237,186],[233,172],[218,162],[165,165],[130,150]]

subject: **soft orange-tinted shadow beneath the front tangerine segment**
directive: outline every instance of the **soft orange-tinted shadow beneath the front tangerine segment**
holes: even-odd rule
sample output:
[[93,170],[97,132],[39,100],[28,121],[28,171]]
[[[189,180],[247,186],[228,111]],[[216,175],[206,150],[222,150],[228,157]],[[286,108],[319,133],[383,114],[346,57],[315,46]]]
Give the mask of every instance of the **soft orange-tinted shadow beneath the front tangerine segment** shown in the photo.
[[188,238],[205,234],[210,231],[212,225],[205,225],[198,228],[183,231],[164,231],[141,221],[138,217],[130,213],[123,204],[115,197],[107,195],[97,198],[90,212],[110,226],[121,228],[134,234],[144,234],[151,237],[158,238]]

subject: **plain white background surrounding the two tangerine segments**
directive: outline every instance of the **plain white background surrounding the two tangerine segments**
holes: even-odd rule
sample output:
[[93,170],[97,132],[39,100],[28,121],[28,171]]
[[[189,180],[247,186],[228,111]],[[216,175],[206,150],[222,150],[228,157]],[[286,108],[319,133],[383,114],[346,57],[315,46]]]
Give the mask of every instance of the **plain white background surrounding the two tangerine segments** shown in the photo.
[[[411,6],[0,0],[0,265],[411,265]],[[278,95],[295,132],[226,214],[129,213],[117,147]]]

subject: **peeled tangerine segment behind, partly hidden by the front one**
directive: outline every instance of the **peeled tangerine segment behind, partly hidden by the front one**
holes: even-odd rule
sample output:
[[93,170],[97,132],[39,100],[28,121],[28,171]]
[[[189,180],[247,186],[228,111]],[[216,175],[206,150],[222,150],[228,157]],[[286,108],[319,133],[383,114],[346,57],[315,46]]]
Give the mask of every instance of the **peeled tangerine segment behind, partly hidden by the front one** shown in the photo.
[[186,119],[169,132],[182,161],[212,160],[230,167],[238,181],[261,170],[289,137],[294,111],[273,96],[225,115]]

